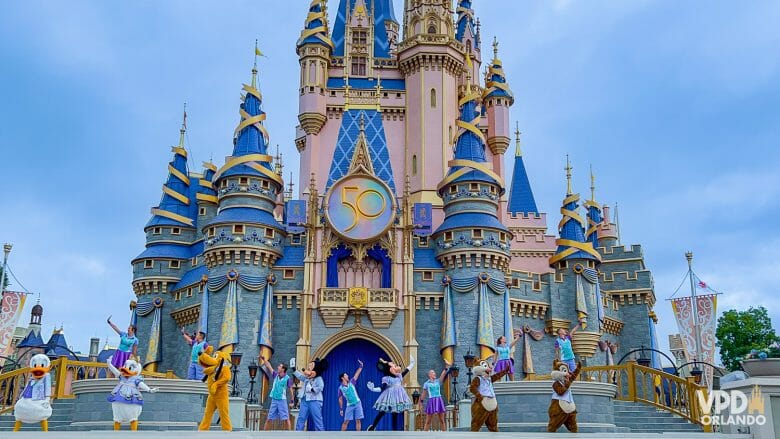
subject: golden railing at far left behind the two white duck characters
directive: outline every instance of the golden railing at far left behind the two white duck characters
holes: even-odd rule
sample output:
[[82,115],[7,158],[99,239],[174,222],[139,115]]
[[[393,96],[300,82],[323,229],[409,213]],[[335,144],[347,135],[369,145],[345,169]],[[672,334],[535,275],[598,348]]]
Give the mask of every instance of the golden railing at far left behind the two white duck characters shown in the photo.
[[[51,362],[49,370],[52,380],[52,399],[73,398],[72,385],[75,381],[96,378],[113,378],[106,363],[95,361],[75,361],[68,357],[59,357]],[[143,372],[150,378],[177,378],[172,371],[167,373]],[[30,368],[23,367],[0,374],[0,414],[13,410],[19,394],[27,385]]]

